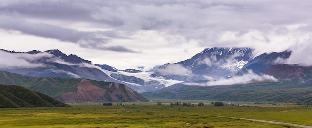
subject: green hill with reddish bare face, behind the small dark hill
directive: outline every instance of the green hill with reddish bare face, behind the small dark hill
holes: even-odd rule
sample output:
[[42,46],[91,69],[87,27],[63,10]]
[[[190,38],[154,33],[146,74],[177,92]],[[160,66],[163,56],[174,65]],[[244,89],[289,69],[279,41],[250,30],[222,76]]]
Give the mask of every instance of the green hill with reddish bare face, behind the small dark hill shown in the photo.
[[20,85],[62,102],[149,101],[118,83],[59,77],[30,77],[0,71],[0,84]]

